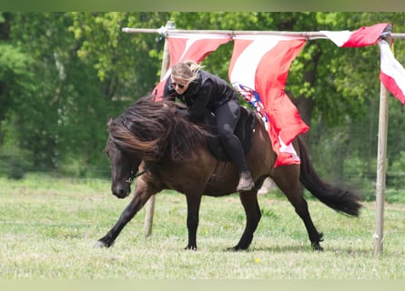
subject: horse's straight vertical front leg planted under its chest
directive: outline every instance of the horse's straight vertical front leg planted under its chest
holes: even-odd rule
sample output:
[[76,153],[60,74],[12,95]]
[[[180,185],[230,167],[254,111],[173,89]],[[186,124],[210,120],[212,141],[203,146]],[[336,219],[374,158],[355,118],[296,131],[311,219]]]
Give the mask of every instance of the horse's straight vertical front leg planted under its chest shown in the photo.
[[197,250],[197,227],[201,195],[186,195],[187,197],[187,230],[188,244],[186,249]]

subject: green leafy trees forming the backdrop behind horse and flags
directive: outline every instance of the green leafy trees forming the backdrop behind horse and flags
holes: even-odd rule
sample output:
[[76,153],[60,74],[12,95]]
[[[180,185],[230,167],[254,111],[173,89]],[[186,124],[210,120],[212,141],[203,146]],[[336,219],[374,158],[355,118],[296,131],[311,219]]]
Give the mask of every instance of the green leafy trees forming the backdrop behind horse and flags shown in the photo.
[[[121,28],[356,30],[403,13],[0,13],[0,174],[27,171],[107,177],[103,148],[108,115],[119,115],[156,85],[164,39]],[[405,64],[405,43],[395,55]],[[228,78],[232,43],[204,61]],[[373,196],[380,95],[378,45],[338,48],[307,42],[293,62],[287,89],[303,119],[321,176]],[[404,107],[390,96],[388,186],[400,195],[405,166]]]

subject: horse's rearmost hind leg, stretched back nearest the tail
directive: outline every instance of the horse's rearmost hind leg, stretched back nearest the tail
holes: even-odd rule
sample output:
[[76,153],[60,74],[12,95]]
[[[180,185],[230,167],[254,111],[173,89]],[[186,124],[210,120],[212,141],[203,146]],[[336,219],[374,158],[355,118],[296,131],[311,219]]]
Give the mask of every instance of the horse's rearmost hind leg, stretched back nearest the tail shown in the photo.
[[299,188],[299,165],[278,166],[272,177],[278,188],[287,196],[292,206],[294,206],[295,212],[304,222],[312,248],[314,250],[322,250],[319,243],[322,241],[323,235],[314,226],[309,215],[307,201],[302,196]]

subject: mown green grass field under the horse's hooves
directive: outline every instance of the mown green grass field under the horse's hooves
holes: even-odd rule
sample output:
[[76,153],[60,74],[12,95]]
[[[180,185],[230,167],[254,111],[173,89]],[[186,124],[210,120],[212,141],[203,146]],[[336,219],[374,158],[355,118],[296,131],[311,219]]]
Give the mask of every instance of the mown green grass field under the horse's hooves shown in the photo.
[[248,251],[227,251],[245,224],[238,196],[204,197],[198,250],[184,250],[186,199],[170,191],[157,196],[152,236],[144,237],[141,210],[115,246],[94,248],[128,203],[112,196],[105,180],[0,178],[0,279],[405,278],[403,204],[386,204],[379,257],[373,256],[374,203],[366,203],[359,218],[349,218],[309,200],[325,235],[319,253],[311,250],[289,202],[271,193],[259,196],[263,217]]

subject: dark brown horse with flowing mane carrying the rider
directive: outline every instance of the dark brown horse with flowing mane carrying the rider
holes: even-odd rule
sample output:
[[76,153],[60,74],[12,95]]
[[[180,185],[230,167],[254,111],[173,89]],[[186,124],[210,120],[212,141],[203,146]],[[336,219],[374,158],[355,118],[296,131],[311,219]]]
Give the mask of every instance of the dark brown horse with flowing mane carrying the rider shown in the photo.
[[[238,171],[233,163],[220,161],[208,150],[207,131],[176,113],[179,105],[154,102],[151,96],[139,99],[115,120],[108,121],[106,155],[111,163],[112,193],[125,198],[137,177],[134,196],[116,222],[96,246],[112,246],[116,237],[147,203],[163,189],[174,189],[187,198],[187,249],[197,249],[198,212],[201,196],[226,196],[236,192]],[[287,196],[303,220],[314,250],[322,250],[322,233],[314,226],[300,183],[319,201],[349,216],[359,216],[360,198],[356,194],[323,182],[315,172],[309,153],[300,138],[293,142],[301,163],[274,167],[276,153],[262,120],[257,116],[251,147],[246,159],[256,187],[239,194],[246,213],[246,226],[233,250],[245,250],[261,217],[258,189],[271,177]],[[139,171],[139,172],[137,172]]]

